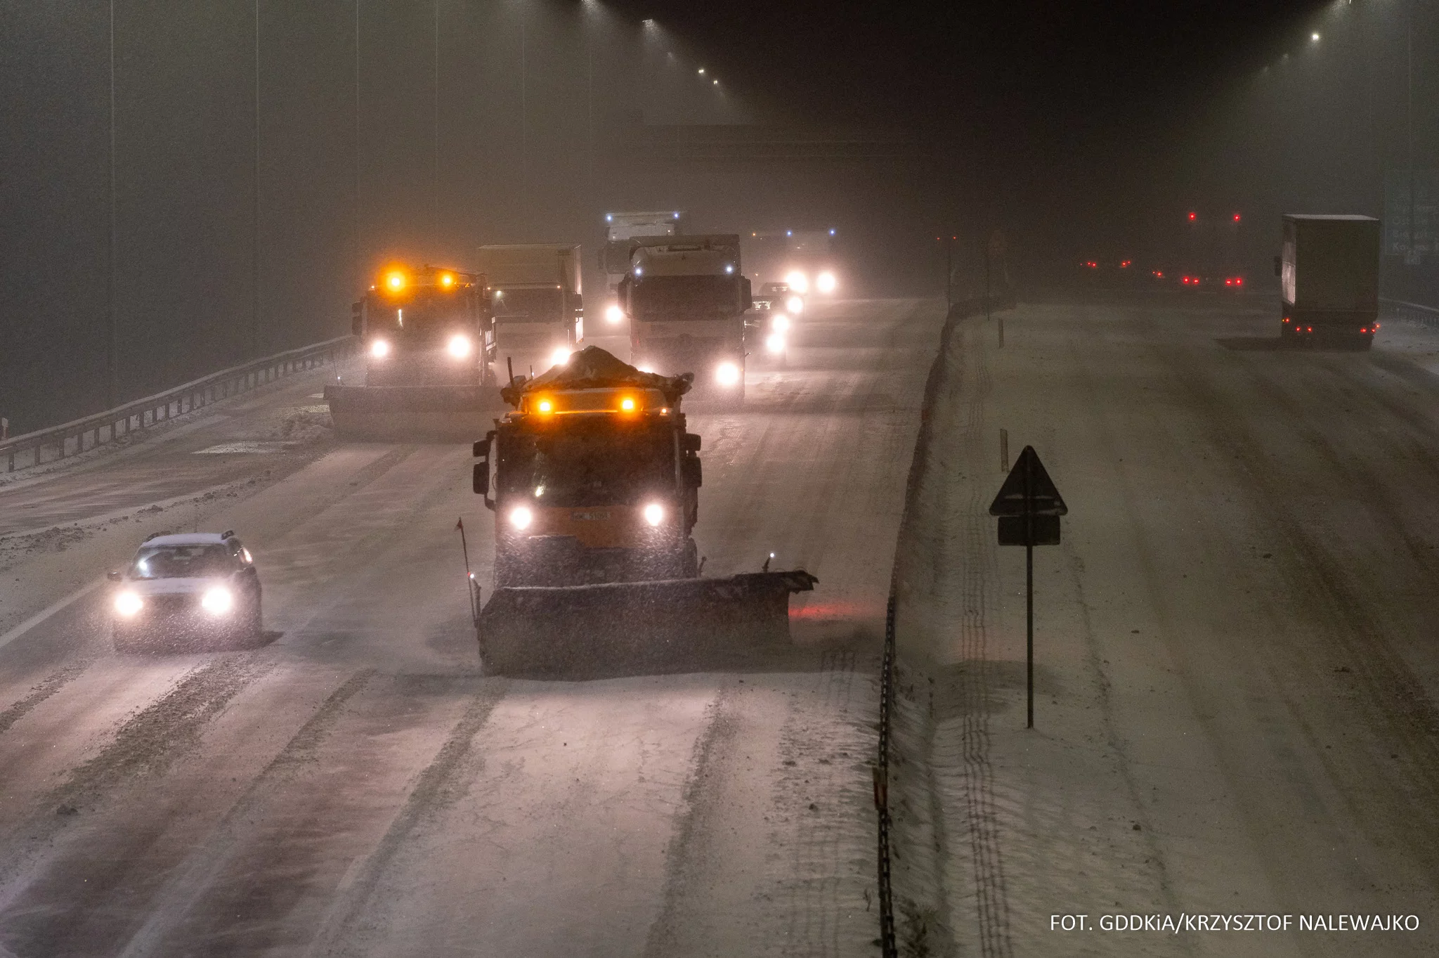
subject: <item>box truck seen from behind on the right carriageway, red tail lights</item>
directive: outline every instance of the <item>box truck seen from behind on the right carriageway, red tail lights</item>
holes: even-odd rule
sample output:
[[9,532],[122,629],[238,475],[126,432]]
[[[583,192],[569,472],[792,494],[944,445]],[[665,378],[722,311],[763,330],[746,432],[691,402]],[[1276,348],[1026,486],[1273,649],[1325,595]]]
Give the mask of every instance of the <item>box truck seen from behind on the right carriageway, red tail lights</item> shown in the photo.
[[1371,216],[1284,216],[1279,337],[1367,350],[1379,329],[1380,222]]

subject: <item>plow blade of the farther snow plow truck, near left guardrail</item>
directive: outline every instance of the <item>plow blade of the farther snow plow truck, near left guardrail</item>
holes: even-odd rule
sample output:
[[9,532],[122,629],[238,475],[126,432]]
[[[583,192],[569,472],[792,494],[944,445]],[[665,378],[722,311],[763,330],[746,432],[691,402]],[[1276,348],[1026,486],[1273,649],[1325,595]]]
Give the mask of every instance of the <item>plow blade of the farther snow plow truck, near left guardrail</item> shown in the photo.
[[335,434],[358,442],[471,443],[491,429],[499,390],[489,386],[327,386]]

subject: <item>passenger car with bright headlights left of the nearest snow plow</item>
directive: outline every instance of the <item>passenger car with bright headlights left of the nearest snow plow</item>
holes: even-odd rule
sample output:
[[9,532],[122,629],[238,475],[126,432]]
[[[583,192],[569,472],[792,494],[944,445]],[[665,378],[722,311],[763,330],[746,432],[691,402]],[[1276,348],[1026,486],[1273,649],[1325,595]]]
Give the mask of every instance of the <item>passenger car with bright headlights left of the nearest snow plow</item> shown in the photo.
[[153,535],[111,596],[117,652],[150,642],[236,642],[260,634],[260,580],[233,531]]

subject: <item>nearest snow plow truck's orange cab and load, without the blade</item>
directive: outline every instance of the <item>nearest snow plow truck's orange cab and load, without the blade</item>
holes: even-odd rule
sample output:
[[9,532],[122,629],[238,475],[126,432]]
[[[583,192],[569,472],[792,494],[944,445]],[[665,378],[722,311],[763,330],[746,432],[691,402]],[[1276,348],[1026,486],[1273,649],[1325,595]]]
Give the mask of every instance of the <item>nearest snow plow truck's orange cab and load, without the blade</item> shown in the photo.
[[495,511],[495,584],[583,585],[698,574],[699,437],[685,377],[590,347],[502,390],[515,409],[475,443]]

